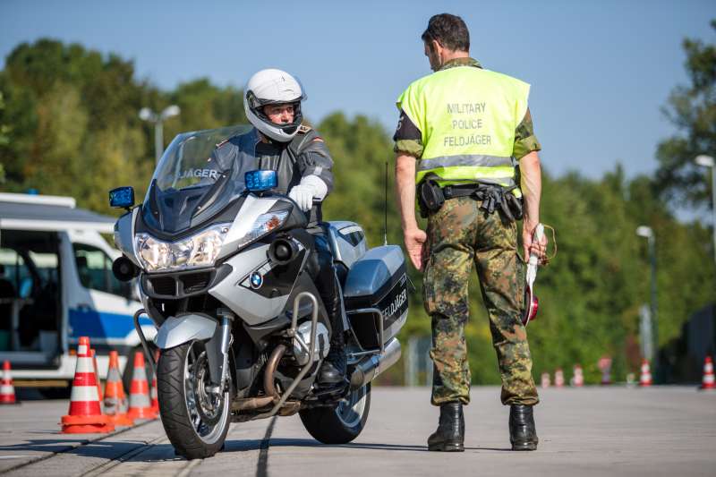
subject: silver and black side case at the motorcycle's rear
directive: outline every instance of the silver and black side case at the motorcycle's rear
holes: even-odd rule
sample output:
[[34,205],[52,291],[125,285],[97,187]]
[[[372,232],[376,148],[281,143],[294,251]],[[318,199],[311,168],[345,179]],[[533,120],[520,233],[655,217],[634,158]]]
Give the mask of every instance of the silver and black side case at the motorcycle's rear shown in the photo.
[[408,316],[408,286],[405,257],[400,247],[373,248],[356,260],[345,279],[345,311],[363,349],[380,346],[379,315],[355,312],[373,308],[381,311],[383,344],[397,335]]

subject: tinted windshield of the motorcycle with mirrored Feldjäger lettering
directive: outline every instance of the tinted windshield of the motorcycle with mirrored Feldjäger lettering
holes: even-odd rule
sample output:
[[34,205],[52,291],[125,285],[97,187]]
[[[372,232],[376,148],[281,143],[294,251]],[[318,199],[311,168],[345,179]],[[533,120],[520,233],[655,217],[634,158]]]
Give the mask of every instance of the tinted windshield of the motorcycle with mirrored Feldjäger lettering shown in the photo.
[[[226,159],[215,151],[222,142],[251,132],[238,125],[175,137],[152,176],[144,200],[144,222],[173,234],[208,222],[245,191],[243,175],[255,161]],[[242,156],[243,157],[243,156]]]

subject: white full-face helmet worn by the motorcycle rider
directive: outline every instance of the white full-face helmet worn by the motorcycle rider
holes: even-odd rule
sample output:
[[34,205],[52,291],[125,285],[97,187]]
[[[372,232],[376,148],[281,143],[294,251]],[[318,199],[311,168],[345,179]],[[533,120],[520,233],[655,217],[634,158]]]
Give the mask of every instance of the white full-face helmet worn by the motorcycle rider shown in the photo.
[[[270,139],[288,142],[294,139],[298,126],[303,121],[301,101],[306,99],[301,82],[281,70],[268,69],[257,72],[246,83],[243,95],[243,109],[251,124]],[[263,112],[263,106],[294,104],[294,122],[291,124],[272,123]]]

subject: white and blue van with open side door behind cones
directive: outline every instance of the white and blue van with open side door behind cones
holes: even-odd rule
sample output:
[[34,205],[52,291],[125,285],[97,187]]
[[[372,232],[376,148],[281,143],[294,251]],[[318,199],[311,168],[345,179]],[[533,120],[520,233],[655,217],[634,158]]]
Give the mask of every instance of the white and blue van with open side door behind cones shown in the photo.
[[[112,274],[119,252],[100,235],[114,224],[71,197],[0,193],[0,362],[11,362],[16,386],[62,394],[49,387],[70,384],[80,336],[97,351],[100,378],[109,350],[119,352],[123,371],[141,350],[135,285]],[[144,320],[151,338],[156,329]]]

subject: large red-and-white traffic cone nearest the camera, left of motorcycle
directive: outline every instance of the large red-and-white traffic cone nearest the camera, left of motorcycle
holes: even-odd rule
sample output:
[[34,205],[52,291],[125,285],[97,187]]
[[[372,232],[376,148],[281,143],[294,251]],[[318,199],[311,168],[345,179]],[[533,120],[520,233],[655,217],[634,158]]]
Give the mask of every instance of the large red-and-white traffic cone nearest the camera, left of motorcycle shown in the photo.
[[77,346],[77,366],[72,381],[70,411],[62,416],[62,431],[65,434],[110,432],[115,424],[102,414],[97,392],[97,375],[90,355],[90,338],[81,336]]

